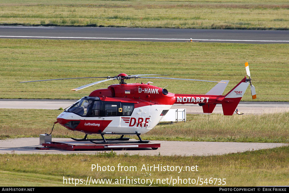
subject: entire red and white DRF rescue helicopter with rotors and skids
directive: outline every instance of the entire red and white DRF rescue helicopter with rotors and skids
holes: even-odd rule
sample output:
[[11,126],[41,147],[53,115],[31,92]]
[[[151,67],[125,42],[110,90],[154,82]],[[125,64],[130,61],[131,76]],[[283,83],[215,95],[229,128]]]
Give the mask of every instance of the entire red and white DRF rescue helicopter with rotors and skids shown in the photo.
[[[102,142],[106,140],[128,140],[124,135],[140,135],[147,133],[155,127],[166,115],[173,104],[199,104],[204,113],[212,113],[216,104],[221,104],[224,115],[233,115],[238,103],[244,95],[247,87],[251,85],[252,98],[256,98],[255,87],[251,83],[248,62],[245,63],[247,75],[227,94],[222,95],[229,81],[217,82],[207,94],[173,94],[165,88],[150,85],[149,83],[126,83],[127,79],[171,79],[171,80],[195,80],[168,77],[145,77],[147,75],[126,75],[121,73],[114,77],[83,77],[83,78],[106,78],[105,80],[90,83],[74,91],[92,86],[105,81],[117,79],[118,84],[108,88],[92,91],[89,96],[84,96],[76,103],[67,107],[56,119],[60,125],[73,131],[81,131],[86,135],[84,139],[77,141],[95,141],[101,139],[87,139],[88,134],[100,134]],[[149,74],[152,75],[152,74]],[[77,78],[65,78],[77,79]],[[62,80],[62,79],[49,79]],[[48,81],[48,80],[39,80]],[[195,80],[203,81],[203,80]],[[25,81],[34,82],[34,81]],[[208,81],[216,82],[216,81]],[[117,139],[105,139],[106,134],[121,135]]]

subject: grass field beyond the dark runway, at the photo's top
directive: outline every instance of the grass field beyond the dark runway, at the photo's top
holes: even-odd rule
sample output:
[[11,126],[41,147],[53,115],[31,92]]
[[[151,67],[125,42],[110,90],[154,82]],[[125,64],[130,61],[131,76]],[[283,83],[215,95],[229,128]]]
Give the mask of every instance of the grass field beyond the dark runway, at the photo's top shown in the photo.
[[289,29],[286,0],[3,0],[0,25]]

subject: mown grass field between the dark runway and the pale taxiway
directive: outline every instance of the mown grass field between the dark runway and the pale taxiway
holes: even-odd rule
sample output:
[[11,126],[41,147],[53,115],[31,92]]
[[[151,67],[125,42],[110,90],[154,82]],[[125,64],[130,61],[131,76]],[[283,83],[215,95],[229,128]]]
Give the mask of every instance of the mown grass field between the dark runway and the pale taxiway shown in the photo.
[[[77,92],[70,89],[100,79],[19,82],[119,73],[230,80],[227,93],[246,75],[244,63],[248,61],[257,92],[255,101],[289,101],[288,55],[288,44],[0,39],[0,98],[79,99],[118,82],[108,81]],[[128,82],[141,81],[152,81],[159,87],[168,85],[169,92],[180,94],[205,94],[215,85],[160,79]],[[242,100],[252,100],[249,88]]]

